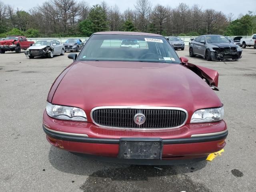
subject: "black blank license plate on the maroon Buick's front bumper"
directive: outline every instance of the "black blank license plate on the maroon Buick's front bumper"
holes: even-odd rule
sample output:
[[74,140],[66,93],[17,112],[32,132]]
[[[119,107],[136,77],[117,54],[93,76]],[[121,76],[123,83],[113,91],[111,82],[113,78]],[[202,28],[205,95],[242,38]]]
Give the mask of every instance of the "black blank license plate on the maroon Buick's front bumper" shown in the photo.
[[161,159],[161,138],[121,138],[119,158],[124,159]]

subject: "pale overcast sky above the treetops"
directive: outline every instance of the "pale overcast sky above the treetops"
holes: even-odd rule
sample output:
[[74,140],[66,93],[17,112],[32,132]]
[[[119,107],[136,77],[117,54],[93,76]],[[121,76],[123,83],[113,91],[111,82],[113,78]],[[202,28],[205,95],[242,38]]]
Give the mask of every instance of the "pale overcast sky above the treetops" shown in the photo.
[[[18,7],[22,10],[29,10],[30,8],[37,6],[38,4],[42,4],[45,0],[0,0],[5,4],[10,4],[14,7]],[[77,0],[78,2],[80,0]],[[134,4],[136,0],[105,0],[109,6],[114,6],[115,4],[120,8],[123,12],[127,8],[134,9]],[[93,4],[97,4],[102,2],[102,0],[93,0],[87,1],[92,6]],[[92,3],[93,2],[93,3]],[[237,17],[240,13],[246,14],[248,10],[252,12],[256,12],[256,0],[182,0],[182,1],[171,1],[171,0],[151,0],[153,5],[160,3],[162,5],[169,5],[170,7],[176,7],[179,3],[186,3],[189,6],[193,4],[198,4],[202,6],[202,9],[212,8],[218,11],[224,12],[224,14],[229,14],[232,12],[235,17]]]

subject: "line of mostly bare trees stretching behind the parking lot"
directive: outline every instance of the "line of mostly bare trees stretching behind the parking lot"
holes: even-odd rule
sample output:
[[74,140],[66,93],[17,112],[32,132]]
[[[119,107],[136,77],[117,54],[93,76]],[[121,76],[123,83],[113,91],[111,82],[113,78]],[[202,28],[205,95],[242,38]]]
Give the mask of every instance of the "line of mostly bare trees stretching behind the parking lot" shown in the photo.
[[0,36],[24,34],[28,37],[90,36],[99,31],[138,31],[163,36],[201,34],[250,35],[256,32],[256,15],[248,11],[234,20],[198,4],[176,7],[137,0],[134,8],[121,12],[105,1],[90,6],[82,0],[47,0],[28,11],[0,1]]

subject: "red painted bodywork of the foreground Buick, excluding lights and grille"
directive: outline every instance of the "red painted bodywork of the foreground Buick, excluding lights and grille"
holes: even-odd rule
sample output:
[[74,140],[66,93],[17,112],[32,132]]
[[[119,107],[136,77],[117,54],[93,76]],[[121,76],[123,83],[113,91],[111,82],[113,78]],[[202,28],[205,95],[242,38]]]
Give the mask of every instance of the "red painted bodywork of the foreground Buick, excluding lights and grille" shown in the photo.
[[[120,34],[125,33],[127,32],[120,32]],[[134,34],[143,35],[143,33]],[[170,65],[155,62],[76,61],[58,76],[47,100],[52,104],[83,109],[87,122],[51,118],[45,111],[43,126],[46,138],[50,144],[71,152],[117,157],[118,144],[74,142],[61,137],[54,138],[50,132],[84,134],[90,139],[116,140],[120,138],[190,139],[192,135],[225,132],[227,126],[224,120],[190,124],[192,114],[196,110],[222,106],[218,96],[202,78],[208,80],[210,86],[218,86],[218,72],[190,64],[186,58],[181,58],[181,64]],[[95,125],[90,117],[91,110],[98,106],[178,107],[188,112],[188,119],[185,125],[179,128],[159,130],[102,128]],[[164,144],[162,159],[205,157],[224,148],[225,138],[226,136],[208,142],[198,140],[193,143]]]

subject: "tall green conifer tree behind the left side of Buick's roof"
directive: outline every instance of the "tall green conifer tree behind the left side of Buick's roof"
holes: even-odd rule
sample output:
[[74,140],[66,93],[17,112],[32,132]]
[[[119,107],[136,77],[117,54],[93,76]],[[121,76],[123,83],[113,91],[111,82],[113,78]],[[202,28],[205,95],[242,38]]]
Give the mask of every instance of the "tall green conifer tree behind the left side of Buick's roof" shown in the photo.
[[90,29],[92,32],[108,30],[107,14],[99,4],[92,6],[89,13]]

